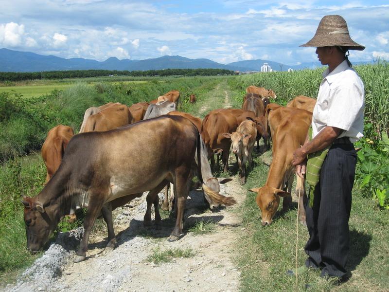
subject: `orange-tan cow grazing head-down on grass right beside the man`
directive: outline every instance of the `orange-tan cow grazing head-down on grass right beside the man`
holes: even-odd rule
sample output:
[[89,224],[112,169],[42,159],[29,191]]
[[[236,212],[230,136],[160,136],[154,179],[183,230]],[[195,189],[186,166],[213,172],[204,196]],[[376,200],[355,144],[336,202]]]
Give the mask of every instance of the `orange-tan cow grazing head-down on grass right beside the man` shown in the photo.
[[[270,165],[266,183],[263,187],[250,191],[257,193],[256,202],[262,212],[262,225],[269,225],[283,197],[283,211],[292,201],[291,190],[295,166],[292,164],[293,152],[304,144],[308,128],[311,125],[312,112],[294,108],[279,107],[269,113],[269,124],[273,140],[273,161]],[[305,182],[298,178],[296,194],[303,206]],[[287,189],[287,192],[286,192]],[[305,223],[305,210],[302,207],[299,220]]]

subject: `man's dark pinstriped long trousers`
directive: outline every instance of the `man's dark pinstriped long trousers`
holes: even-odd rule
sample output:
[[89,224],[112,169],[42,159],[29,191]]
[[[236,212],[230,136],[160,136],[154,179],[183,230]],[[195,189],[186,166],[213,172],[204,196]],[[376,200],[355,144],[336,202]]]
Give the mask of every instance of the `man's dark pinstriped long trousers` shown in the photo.
[[309,240],[307,267],[321,276],[343,277],[349,254],[349,218],[356,152],[353,144],[334,144],[328,151],[315,187],[312,208],[305,204]]

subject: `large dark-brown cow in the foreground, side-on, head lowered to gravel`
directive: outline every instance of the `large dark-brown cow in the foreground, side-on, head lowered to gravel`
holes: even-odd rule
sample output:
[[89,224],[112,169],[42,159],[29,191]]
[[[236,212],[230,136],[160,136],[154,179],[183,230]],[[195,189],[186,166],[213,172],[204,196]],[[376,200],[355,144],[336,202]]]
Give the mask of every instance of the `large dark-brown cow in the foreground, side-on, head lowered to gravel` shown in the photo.
[[[201,157],[200,139],[197,128],[179,116],[162,116],[106,132],[74,136],[49,183],[35,198],[23,199],[28,249],[39,251],[59,220],[82,207],[88,208],[85,232],[74,262],[85,260],[90,230],[100,213],[107,223],[106,248],[113,249],[116,239],[111,202],[126,196],[126,200],[140,197],[142,192],[150,190],[145,224],[151,221],[151,203],[156,207],[158,224],[161,220],[158,192],[169,181],[174,182],[177,191],[177,220],[169,240],[179,239],[189,191],[188,176],[195,153]],[[201,162],[198,159],[198,164]],[[236,203],[232,197],[224,197],[204,183],[201,165],[198,171],[211,207]]]

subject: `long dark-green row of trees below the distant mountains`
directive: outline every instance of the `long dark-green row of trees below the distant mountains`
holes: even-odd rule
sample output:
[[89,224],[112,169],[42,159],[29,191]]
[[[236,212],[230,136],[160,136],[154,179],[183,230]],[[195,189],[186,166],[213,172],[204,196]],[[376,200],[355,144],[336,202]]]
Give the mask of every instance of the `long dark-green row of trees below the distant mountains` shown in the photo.
[[227,69],[164,69],[147,71],[118,71],[118,70],[69,70],[69,71],[42,71],[42,72],[0,72],[0,81],[23,81],[36,79],[64,79],[87,78],[102,76],[215,76],[234,75],[234,71]]

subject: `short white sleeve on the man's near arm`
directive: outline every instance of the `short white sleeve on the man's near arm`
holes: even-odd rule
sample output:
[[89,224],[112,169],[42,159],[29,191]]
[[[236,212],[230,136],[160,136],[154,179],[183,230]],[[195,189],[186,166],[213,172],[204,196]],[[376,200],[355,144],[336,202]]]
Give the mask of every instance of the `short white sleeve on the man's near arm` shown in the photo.
[[328,105],[327,126],[348,131],[363,108],[363,92],[356,85],[332,90]]

